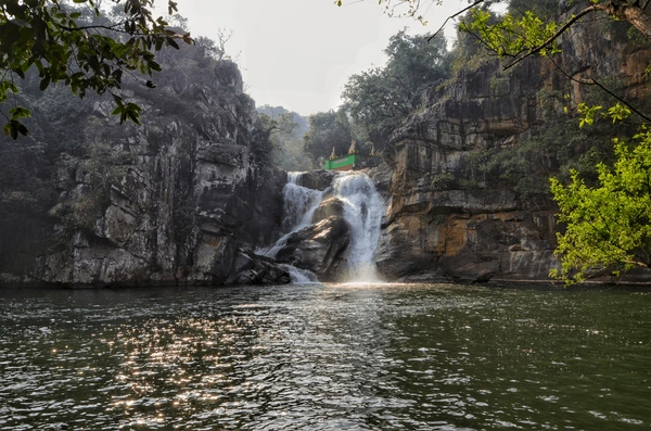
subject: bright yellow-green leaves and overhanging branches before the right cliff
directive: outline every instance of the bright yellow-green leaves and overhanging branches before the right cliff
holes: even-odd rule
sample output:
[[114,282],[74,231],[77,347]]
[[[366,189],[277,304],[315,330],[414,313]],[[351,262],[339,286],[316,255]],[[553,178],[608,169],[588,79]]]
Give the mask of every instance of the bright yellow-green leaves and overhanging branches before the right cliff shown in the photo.
[[[550,20],[539,20],[531,12],[525,12],[519,20],[507,14],[496,24],[492,24],[487,13],[476,10],[472,13],[470,24],[462,26],[462,29],[474,31],[484,46],[499,56],[510,58],[506,67],[532,54],[560,53],[556,45],[559,37],[571,27],[577,26],[583,16],[598,12],[605,12],[611,17],[628,22],[628,45],[648,45],[649,41],[643,37],[640,40],[635,36],[642,35],[648,38],[651,35],[651,16],[639,21],[624,10],[630,11],[630,8],[639,8],[640,4],[633,5],[633,2],[628,2],[620,4],[620,9],[612,9],[615,3],[618,2],[604,4],[592,1],[583,9],[576,5],[576,13],[566,14],[558,24]],[[638,12],[647,14],[643,8]],[[599,37],[609,37],[611,40],[622,38],[622,31],[617,31],[621,27],[617,23],[603,26],[604,31]],[[574,151],[574,154],[565,153],[565,157],[558,157],[560,163],[557,172],[542,169],[548,176],[553,175],[551,192],[559,205],[559,220],[564,224],[564,230],[558,234],[556,251],[561,261],[561,270],[553,270],[550,275],[574,283],[591,275],[618,275],[636,266],[649,267],[651,219],[647,214],[651,210],[648,202],[651,197],[648,180],[651,137],[644,128],[644,124],[649,122],[646,114],[649,112],[649,103],[639,98],[631,101],[627,96],[626,86],[617,83],[614,76],[598,76],[595,73],[570,76],[557,61],[552,61],[567,76],[567,80],[591,86],[595,91],[591,91],[591,100],[586,98],[574,105],[579,117],[578,128],[573,129],[570,126],[559,130],[562,135],[567,135],[564,130],[570,130],[571,135],[578,138],[576,142],[584,149]],[[595,98],[595,94],[599,96]],[[571,101],[565,105],[565,113],[569,113],[567,105],[572,105]],[[636,114],[635,118],[629,118],[631,111]],[[603,117],[612,118],[612,122],[599,122]],[[625,124],[624,121],[629,122]],[[559,122],[552,124],[558,125]],[[641,131],[636,132],[640,124]],[[586,130],[586,125],[597,127]],[[549,131],[544,131],[539,138],[545,139]],[[612,139],[613,136],[620,138]],[[625,138],[631,136],[633,139]],[[536,142],[536,139],[519,143],[518,150],[531,148],[531,143]],[[553,139],[550,142],[553,142]],[[522,153],[518,155],[521,157]],[[508,159],[508,153],[501,153],[498,157]],[[520,178],[532,178],[532,175],[523,175],[524,172],[520,174]],[[537,182],[534,180],[533,183]],[[525,190],[532,189],[525,187]]]

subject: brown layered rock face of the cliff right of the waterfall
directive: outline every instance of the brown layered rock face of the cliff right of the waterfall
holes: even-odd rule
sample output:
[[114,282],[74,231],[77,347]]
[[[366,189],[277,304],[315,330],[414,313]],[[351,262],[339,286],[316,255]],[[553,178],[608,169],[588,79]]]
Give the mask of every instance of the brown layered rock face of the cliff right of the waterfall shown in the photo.
[[[651,52],[597,40],[590,35],[602,34],[595,25],[577,26],[561,41],[565,73],[616,76],[628,96],[643,98]],[[546,127],[540,90],[564,91],[577,103],[587,89],[569,84],[548,59],[527,59],[508,73],[500,67],[487,62],[432,89],[392,136],[384,153],[388,168],[373,173],[390,202],[375,252],[387,278],[549,280],[559,266],[557,208],[549,195],[523,197],[472,172],[472,161]]]

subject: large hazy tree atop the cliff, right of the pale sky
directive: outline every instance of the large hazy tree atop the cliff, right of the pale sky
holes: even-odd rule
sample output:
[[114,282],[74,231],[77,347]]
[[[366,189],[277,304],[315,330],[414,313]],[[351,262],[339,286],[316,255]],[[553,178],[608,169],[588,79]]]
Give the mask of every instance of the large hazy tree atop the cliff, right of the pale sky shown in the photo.
[[379,148],[418,106],[424,89],[447,79],[450,69],[443,36],[427,42],[400,30],[384,52],[386,65],[353,75],[342,94],[345,110]]

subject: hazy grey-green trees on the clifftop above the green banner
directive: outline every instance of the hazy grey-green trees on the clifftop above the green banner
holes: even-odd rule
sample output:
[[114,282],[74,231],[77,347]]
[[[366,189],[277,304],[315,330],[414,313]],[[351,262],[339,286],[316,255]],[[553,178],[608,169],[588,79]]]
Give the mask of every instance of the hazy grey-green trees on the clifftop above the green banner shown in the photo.
[[346,154],[350,142],[361,151],[384,149],[391,134],[420,104],[422,93],[450,76],[450,55],[443,37],[431,41],[405,30],[394,35],[384,50],[387,62],[349,77],[335,112],[309,117],[304,150],[317,166],[332,149]]

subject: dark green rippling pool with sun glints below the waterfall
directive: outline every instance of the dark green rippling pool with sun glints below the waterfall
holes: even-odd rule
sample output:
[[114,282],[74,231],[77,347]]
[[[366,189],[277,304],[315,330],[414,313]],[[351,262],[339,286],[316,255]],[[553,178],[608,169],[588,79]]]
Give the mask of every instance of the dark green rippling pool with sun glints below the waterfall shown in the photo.
[[651,291],[0,291],[0,430],[651,428]]

